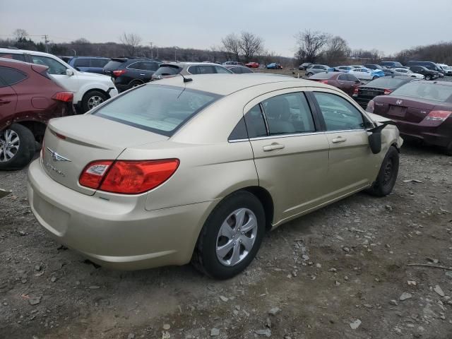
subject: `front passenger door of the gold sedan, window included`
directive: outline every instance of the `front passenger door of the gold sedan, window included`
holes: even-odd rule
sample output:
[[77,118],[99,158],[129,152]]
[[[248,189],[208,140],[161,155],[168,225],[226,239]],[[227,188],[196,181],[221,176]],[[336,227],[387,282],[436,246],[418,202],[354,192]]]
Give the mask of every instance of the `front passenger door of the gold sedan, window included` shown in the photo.
[[371,153],[366,130],[373,124],[339,93],[315,91],[313,97],[330,145],[326,181],[331,198],[368,186],[379,171],[379,156]]

